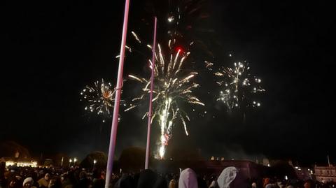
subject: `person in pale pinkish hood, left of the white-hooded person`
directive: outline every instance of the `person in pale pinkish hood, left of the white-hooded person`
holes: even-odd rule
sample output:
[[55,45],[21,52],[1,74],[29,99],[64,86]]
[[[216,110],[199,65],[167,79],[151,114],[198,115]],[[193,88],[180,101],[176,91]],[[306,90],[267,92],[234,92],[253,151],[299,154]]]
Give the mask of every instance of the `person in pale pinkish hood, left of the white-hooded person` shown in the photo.
[[179,188],[198,188],[196,173],[191,168],[181,171]]

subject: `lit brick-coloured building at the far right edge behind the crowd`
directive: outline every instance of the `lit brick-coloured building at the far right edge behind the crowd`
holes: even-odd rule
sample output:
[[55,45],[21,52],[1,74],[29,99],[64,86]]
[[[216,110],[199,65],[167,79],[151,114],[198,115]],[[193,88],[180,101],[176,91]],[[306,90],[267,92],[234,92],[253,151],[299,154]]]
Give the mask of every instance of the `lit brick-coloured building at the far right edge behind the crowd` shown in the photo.
[[336,167],[335,166],[315,166],[314,167],[316,180],[319,182],[336,182]]

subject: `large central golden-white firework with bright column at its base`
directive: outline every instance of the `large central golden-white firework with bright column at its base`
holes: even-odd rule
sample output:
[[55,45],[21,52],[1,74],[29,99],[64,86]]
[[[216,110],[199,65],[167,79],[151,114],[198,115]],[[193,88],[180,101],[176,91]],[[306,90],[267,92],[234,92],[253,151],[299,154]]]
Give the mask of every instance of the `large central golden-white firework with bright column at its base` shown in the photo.
[[[136,34],[133,34],[137,38]],[[192,43],[190,43],[192,45]],[[151,48],[150,45],[147,45]],[[182,48],[176,47],[176,40],[169,40],[167,51],[158,44],[158,50],[155,52],[154,67],[154,88],[153,88],[153,115],[151,121],[158,120],[160,124],[160,145],[158,149],[158,157],[161,159],[165,155],[165,147],[168,145],[169,139],[172,137],[172,127],[176,124],[176,120],[181,120],[186,135],[188,129],[186,122],[190,120],[188,114],[181,109],[181,103],[189,103],[193,105],[204,106],[193,94],[193,89],[199,87],[193,78],[197,72],[188,72],[183,69],[186,64],[190,52],[184,52]],[[151,60],[148,60],[149,68],[153,68]],[[130,108],[136,108],[141,103],[148,101],[150,92],[151,79],[140,78],[137,75],[129,75],[130,79],[141,84],[142,92],[139,96],[132,99]],[[146,117],[148,113],[144,114]],[[144,119],[143,117],[143,119]]]

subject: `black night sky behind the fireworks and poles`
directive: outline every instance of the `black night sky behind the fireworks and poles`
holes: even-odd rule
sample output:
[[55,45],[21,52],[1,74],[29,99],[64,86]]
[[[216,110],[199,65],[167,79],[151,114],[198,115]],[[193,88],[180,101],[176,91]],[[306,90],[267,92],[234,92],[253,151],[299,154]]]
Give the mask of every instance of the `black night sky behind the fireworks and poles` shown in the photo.
[[[35,155],[66,152],[85,157],[94,150],[108,150],[111,122],[87,114],[79,93],[102,78],[115,84],[124,3],[9,1],[1,8],[0,141],[15,140]],[[153,12],[169,13],[169,8],[151,1],[130,5],[127,40],[132,43],[130,31],[139,31],[151,41],[152,26],[146,20]],[[186,17],[193,27],[184,33],[188,40],[207,46],[194,52],[197,67],[204,59],[231,66],[232,54],[250,63],[267,92],[262,107],[247,110],[245,118],[228,114],[216,103],[219,88],[213,87],[214,79],[200,69],[197,94],[207,106],[190,114],[190,136],[176,124],[169,150],[195,148],[204,157],[269,157],[305,164],[326,164],[329,154],[335,164],[336,22],[331,4],[205,1],[200,11],[209,17],[195,21]],[[158,22],[159,40],[167,36],[165,24],[167,20]],[[131,54],[125,59],[124,75],[128,73],[149,78],[146,62]],[[122,97],[127,99],[137,89],[134,82],[125,82]],[[117,155],[125,147],[146,146],[142,109],[146,106],[121,113]],[[199,115],[204,111],[207,114]],[[158,127],[153,129],[152,148],[157,136]]]

